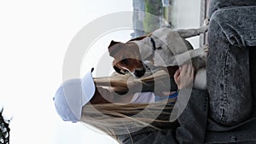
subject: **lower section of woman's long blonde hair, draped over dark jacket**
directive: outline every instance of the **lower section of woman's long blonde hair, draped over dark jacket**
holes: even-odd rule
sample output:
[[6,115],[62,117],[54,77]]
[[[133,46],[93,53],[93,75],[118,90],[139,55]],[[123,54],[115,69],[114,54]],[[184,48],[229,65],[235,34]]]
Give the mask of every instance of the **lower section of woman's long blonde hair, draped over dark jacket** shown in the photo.
[[145,127],[160,130],[157,123],[168,123],[172,112],[172,106],[166,106],[166,101],[150,104],[88,104],[83,107],[81,121],[116,138],[115,135],[130,134]]

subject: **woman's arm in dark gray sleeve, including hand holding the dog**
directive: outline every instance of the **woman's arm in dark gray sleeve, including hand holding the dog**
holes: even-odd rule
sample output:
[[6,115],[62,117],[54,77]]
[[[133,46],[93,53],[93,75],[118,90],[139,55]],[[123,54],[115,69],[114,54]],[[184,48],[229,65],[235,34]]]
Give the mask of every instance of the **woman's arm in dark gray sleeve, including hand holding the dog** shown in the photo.
[[[175,72],[174,79],[178,89],[192,89],[194,82],[194,67],[183,65]],[[183,110],[183,113],[177,118],[180,124],[176,130],[176,139],[178,143],[193,144],[204,143],[207,129],[208,113],[208,93],[207,90],[192,89],[191,93],[183,97],[188,97],[189,101]],[[182,106],[185,102],[183,99],[177,99],[177,105]],[[179,107],[178,106],[178,107]]]

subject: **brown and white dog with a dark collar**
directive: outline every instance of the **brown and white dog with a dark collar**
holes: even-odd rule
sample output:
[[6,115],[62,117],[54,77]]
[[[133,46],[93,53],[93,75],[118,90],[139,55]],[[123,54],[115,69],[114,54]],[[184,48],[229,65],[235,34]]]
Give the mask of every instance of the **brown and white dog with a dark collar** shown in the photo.
[[[197,29],[180,29],[161,27],[143,37],[131,39],[126,43],[111,41],[109,55],[113,57],[113,69],[120,73],[131,73],[141,78],[146,72],[147,63],[166,67],[173,77],[178,66],[192,62],[195,67],[195,83],[199,89],[206,89],[207,45],[194,49],[185,39],[207,32],[209,20]],[[198,74],[198,75],[197,75]],[[204,80],[205,79],[205,80]]]

